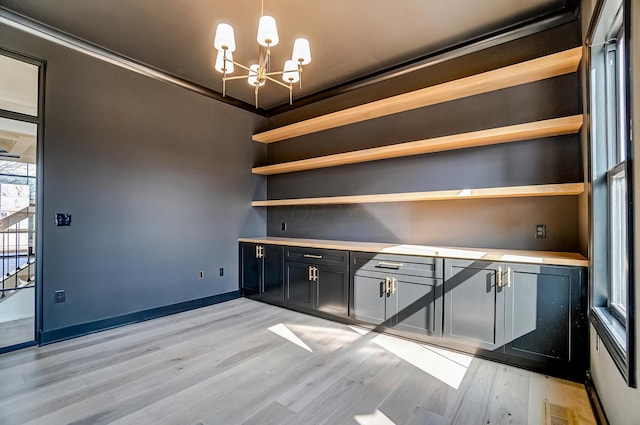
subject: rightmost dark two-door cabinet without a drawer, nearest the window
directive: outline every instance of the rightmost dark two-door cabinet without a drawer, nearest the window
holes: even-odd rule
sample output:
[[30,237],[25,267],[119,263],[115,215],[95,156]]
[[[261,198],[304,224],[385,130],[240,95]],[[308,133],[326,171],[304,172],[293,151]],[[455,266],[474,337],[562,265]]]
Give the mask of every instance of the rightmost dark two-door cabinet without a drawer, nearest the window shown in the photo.
[[586,370],[581,267],[445,260],[445,339],[514,363]]

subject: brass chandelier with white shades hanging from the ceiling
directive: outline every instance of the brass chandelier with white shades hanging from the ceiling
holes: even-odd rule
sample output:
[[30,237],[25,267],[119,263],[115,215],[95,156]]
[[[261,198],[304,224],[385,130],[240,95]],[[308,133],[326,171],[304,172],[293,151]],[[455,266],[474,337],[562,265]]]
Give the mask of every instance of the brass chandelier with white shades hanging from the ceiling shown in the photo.
[[[293,104],[293,84],[300,83],[302,88],[302,66],[311,62],[311,50],[309,41],[305,38],[297,38],[293,43],[291,59],[284,63],[282,71],[271,72],[270,56],[271,48],[280,41],[276,20],[272,16],[264,14],[264,0],[260,21],[258,22],[258,63],[249,66],[242,65],[233,60],[233,52],[236,50],[236,41],[233,35],[233,27],[229,24],[218,24],[213,45],[218,50],[215,69],[222,74],[222,96],[226,96],[226,83],[229,80],[246,79],[249,85],[254,87],[255,104],[258,107],[258,91],[267,81],[276,83],[289,89],[289,104]],[[229,76],[235,67],[247,71],[244,75]],[[275,76],[281,76],[279,81]],[[283,82],[284,81],[284,82]]]

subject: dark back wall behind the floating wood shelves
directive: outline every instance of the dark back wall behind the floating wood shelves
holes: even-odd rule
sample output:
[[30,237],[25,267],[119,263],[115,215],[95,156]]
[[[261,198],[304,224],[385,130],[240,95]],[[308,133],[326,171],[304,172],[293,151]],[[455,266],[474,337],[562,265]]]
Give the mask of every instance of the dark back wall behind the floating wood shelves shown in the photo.
[[[277,126],[580,45],[577,22],[271,117]],[[273,164],[582,113],[577,73],[268,145]],[[396,86],[394,86],[394,82]],[[583,182],[580,136],[566,135],[272,175],[268,198]],[[576,196],[269,207],[269,236],[487,248],[581,250]],[[287,230],[281,230],[281,223]],[[536,239],[536,224],[547,237]]]

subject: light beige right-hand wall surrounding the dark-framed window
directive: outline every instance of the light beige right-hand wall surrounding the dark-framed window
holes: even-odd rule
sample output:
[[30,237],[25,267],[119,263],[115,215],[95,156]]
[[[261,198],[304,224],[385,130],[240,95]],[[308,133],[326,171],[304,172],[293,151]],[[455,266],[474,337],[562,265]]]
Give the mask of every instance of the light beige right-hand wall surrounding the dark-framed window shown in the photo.
[[[593,13],[593,7],[595,6],[595,0],[585,0],[582,2],[583,24],[584,28],[589,23],[591,15]],[[631,1],[631,16],[633,21],[631,23],[632,29],[632,121],[634,123],[640,123],[640,3],[637,1]],[[637,158],[640,152],[640,125],[635,125],[633,129],[634,140],[634,152]],[[634,189],[635,199],[640,199],[640,166],[638,161],[633,162],[634,173]],[[635,305],[636,305],[636,317],[635,317],[635,343],[636,343],[636,367],[640,365],[640,350],[638,350],[638,342],[640,341],[640,323],[638,323],[638,306],[640,305],[640,291],[638,291],[638,282],[640,282],[640,214],[638,214],[638,206],[636,202],[635,211],[635,235],[630,235],[634,238],[635,244],[635,258],[633,261],[636,264],[635,267]],[[622,375],[618,371],[611,358],[611,355],[607,352],[604,344],[600,344],[600,349],[596,349],[597,333],[593,326],[591,326],[591,375],[596,386],[596,390],[603,404],[607,419],[610,424],[615,425],[636,425],[638,418],[640,418],[640,389],[629,388],[622,378]],[[636,370],[636,380],[640,378]]]

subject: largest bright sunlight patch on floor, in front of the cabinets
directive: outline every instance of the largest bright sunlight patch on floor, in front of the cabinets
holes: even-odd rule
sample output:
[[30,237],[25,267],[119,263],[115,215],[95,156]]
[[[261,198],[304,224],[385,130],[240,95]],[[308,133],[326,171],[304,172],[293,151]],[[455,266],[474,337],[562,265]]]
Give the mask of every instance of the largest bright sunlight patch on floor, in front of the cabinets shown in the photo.
[[460,387],[473,359],[465,354],[428,347],[387,335],[378,335],[372,341],[456,390]]

